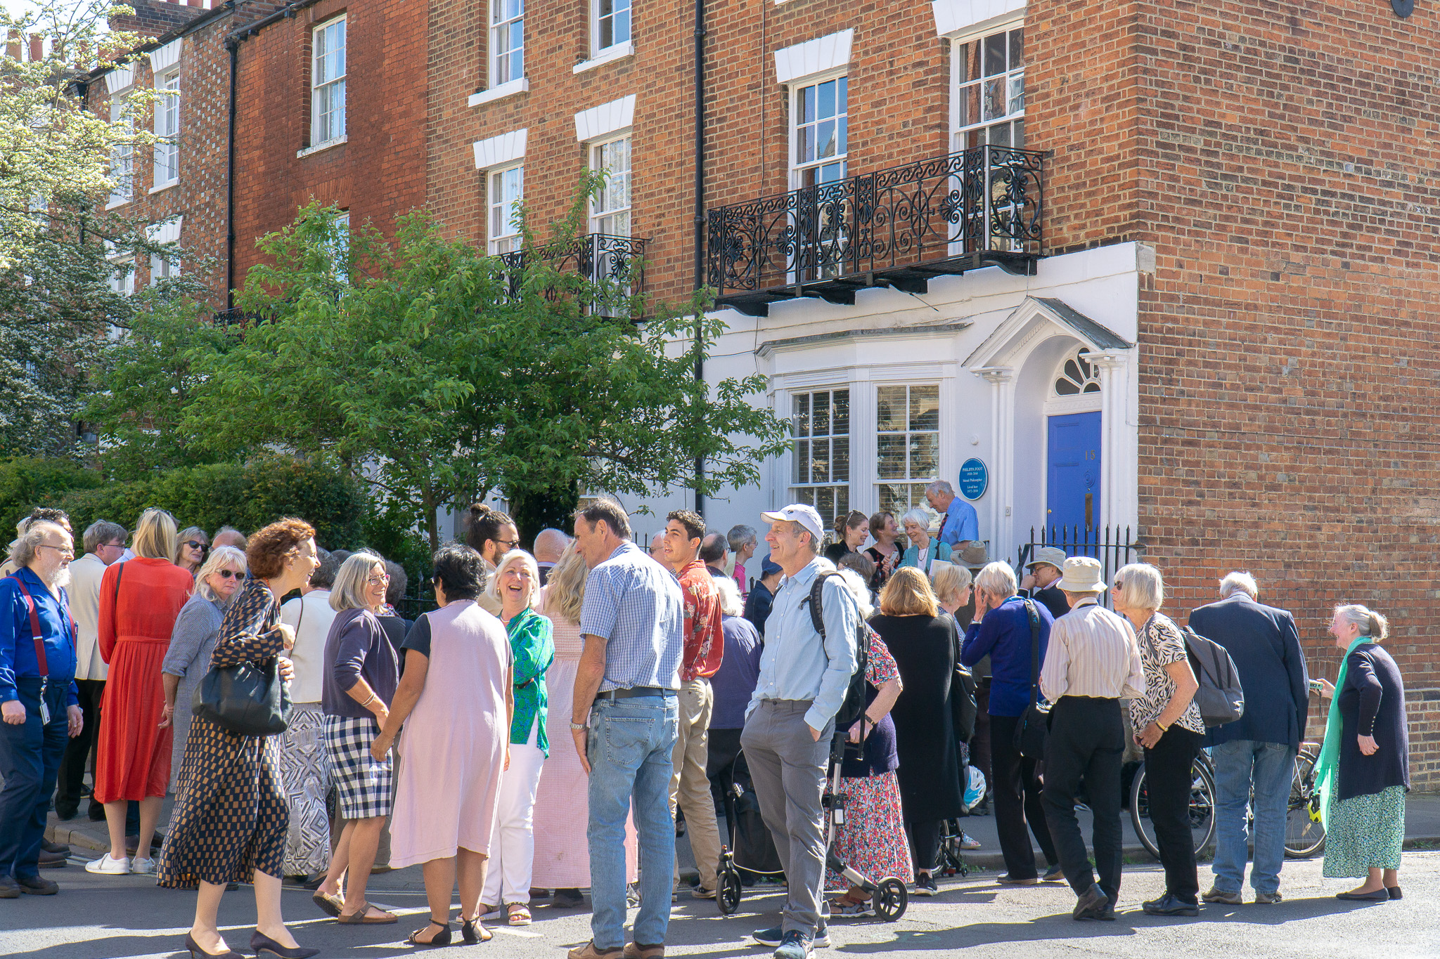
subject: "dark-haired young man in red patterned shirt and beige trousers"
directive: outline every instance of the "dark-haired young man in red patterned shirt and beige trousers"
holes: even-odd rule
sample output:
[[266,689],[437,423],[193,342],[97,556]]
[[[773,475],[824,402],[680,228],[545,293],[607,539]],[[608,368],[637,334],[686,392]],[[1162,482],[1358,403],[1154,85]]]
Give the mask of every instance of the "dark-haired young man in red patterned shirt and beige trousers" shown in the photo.
[[[670,758],[670,814],[675,814],[677,804],[685,812],[685,834],[700,870],[700,887],[694,897],[714,899],[720,831],[716,828],[706,759],[710,710],[714,706],[710,677],[720,669],[720,659],[724,656],[724,630],[720,624],[720,592],[700,559],[704,535],[706,520],[698,513],[674,510],[665,518],[661,561],[674,569],[685,602],[685,653],[680,661],[680,735]],[[675,877],[680,877],[678,864]]]

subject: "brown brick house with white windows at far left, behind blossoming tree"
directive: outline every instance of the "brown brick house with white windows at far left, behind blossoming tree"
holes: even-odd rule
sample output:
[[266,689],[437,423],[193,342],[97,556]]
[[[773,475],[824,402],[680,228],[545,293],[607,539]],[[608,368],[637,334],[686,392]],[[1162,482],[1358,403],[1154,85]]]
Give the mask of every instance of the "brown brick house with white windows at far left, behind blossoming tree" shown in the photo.
[[[238,26],[271,13],[269,0],[233,0],[212,9],[166,0],[130,0],[134,14],[117,17],[112,27],[150,37],[124,66],[96,70],[86,78],[91,109],[151,129],[163,142],[154,148],[120,150],[111,168],[121,185],[107,207],[151,223],[151,234],[180,243],[194,260],[132,263],[118,257],[115,285],[135,289],[166,272],[213,266],[206,283],[212,305],[226,305],[226,230],[230,66],[225,37]],[[127,112],[134,91],[160,89],[154,104],[138,99]]]

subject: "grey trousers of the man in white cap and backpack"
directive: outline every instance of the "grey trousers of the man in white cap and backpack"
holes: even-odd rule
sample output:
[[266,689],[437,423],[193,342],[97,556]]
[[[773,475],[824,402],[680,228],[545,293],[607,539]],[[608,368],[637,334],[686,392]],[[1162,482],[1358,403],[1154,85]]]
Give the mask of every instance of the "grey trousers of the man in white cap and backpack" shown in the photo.
[[744,722],[740,748],[788,883],[780,929],[815,936],[825,927],[825,821],[819,799],[835,720],[825,723],[816,740],[805,725],[809,707],[809,700],[760,700]]

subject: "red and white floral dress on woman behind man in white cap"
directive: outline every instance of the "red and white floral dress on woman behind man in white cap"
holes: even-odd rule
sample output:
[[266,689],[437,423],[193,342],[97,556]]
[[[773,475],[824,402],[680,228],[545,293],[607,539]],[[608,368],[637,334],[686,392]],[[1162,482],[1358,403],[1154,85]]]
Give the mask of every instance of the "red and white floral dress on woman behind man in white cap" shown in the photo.
[[[865,682],[878,690],[899,677],[900,667],[886,648],[884,640],[871,634]],[[840,861],[871,881],[888,876],[903,883],[914,881],[910,843],[900,812],[900,782],[894,769],[858,779],[844,778],[840,781],[840,788],[845,795],[845,822],[835,827],[835,843],[831,847]],[[850,880],[827,868],[825,889],[845,891],[850,889]]]

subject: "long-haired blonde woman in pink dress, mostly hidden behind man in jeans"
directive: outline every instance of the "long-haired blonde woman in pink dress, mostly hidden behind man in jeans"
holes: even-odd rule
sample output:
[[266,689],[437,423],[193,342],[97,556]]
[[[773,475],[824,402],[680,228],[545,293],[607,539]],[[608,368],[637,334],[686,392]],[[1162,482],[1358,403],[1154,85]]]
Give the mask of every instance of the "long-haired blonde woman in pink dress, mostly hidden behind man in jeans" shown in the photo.
[[[585,558],[575,551],[575,543],[566,548],[544,589],[540,591],[540,615],[553,624],[554,663],[546,674],[550,694],[550,716],[569,719],[570,700],[575,696],[575,674],[580,667],[580,601],[585,598]],[[575,749],[552,749],[540,774],[540,788],[536,791],[534,837],[536,857],[530,884],[537,889],[553,889],[552,906],[577,909],[585,904],[580,889],[590,884],[590,847],[585,838],[590,821],[588,799],[589,784],[580,756]],[[638,863],[635,827],[625,824],[625,873],[635,881]]]

